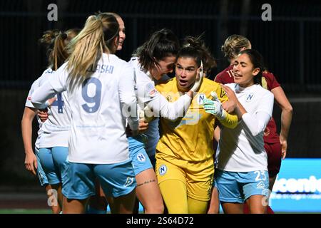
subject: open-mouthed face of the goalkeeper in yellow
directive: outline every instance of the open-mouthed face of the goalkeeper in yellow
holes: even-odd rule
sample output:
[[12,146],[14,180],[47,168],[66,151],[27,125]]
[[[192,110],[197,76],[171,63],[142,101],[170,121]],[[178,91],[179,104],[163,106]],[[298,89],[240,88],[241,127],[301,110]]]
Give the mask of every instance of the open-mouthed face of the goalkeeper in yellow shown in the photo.
[[198,65],[194,58],[180,57],[176,62],[175,77],[180,91],[188,91],[195,82]]

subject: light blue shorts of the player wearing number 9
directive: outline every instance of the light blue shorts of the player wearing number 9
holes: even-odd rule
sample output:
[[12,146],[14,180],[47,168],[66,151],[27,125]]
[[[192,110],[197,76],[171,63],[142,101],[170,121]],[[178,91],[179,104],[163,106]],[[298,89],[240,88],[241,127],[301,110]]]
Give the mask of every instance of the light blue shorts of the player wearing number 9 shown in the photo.
[[103,165],[69,162],[66,172],[62,192],[68,199],[87,199],[96,195],[96,177],[106,197],[121,197],[136,187],[131,159]]

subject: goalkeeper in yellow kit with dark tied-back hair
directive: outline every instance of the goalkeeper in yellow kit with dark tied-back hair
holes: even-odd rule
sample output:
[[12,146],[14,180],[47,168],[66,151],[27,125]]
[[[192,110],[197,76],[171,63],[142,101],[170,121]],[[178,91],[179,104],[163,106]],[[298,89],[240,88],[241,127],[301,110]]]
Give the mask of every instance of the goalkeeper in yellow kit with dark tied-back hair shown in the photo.
[[[174,102],[193,86],[198,74],[215,66],[200,38],[185,38],[178,53],[175,78],[156,86]],[[214,92],[214,93],[213,93]],[[213,100],[210,113],[203,99]],[[203,78],[190,108],[175,122],[161,118],[161,138],[156,147],[156,175],[168,212],[206,213],[214,175],[213,134],[216,119],[226,128],[235,128],[238,117],[223,110],[228,100],[220,84]]]

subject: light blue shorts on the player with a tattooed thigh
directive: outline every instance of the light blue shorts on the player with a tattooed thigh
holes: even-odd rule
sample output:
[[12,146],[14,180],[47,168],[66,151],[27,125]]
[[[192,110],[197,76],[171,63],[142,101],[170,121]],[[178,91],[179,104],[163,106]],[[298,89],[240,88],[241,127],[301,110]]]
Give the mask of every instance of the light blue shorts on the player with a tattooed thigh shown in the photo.
[[146,136],[145,135],[137,135],[136,137],[128,137],[129,144],[129,154],[131,155],[131,159],[133,160],[133,169],[135,175],[143,172],[144,170],[153,169],[153,165],[151,164],[151,160],[149,159],[146,147]]

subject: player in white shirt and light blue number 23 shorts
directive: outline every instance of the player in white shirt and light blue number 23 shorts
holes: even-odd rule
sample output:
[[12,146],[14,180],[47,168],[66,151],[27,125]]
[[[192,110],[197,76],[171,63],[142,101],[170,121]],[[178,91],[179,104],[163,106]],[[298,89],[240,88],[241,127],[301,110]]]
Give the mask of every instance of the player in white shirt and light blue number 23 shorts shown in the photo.
[[[223,86],[236,104],[241,120],[235,129],[222,128],[215,182],[225,213],[243,213],[243,202],[250,213],[265,213],[268,197],[267,154],[263,132],[272,116],[273,94],[260,86],[263,58],[255,50],[241,51],[233,63],[235,83]],[[213,100],[205,99],[206,112],[212,113]]]

